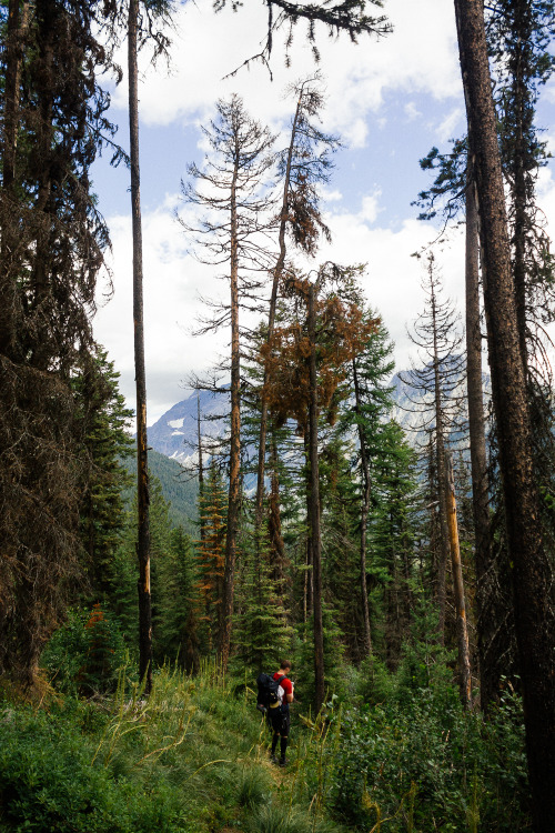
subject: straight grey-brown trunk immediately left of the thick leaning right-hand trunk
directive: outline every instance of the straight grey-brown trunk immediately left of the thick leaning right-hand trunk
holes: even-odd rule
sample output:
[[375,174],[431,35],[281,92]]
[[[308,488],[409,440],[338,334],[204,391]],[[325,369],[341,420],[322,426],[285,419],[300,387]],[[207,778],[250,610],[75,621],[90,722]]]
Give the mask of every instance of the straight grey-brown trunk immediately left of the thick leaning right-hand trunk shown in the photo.
[[472,137],[468,137],[466,181],[466,389],[468,394],[468,435],[471,442],[472,510],[474,519],[474,563],[476,566],[477,641],[480,699],[483,710],[495,695],[494,675],[487,663],[486,621],[487,582],[491,564],[491,525],[485,438],[484,394],[482,388],[482,330],[480,325],[478,217],[473,177]]

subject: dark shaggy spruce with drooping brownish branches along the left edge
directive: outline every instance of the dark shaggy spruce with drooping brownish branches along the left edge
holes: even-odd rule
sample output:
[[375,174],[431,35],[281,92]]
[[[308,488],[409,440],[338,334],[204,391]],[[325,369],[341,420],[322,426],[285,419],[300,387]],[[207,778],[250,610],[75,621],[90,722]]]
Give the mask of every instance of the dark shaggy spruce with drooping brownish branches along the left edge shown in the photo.
[[109,68],[94,34],[99,4],[40,0],[9,12],[0,101],[0,668],[32,683],[82,575],[84,436],[72,379],[93,362],[90,319],[108,231],[89,171],[113,129],[97,82]]

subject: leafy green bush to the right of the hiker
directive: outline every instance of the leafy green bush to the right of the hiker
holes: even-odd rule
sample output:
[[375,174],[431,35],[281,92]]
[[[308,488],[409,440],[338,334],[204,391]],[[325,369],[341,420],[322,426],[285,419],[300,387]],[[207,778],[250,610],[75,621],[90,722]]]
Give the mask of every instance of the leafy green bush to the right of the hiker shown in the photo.
[[518,697],[507,693],[488,723],[465,713],[454,690],[345,712],[333,805],[363,831],[385,817],[391,833],[467,833],[477,819],[488,833],[529,830]]

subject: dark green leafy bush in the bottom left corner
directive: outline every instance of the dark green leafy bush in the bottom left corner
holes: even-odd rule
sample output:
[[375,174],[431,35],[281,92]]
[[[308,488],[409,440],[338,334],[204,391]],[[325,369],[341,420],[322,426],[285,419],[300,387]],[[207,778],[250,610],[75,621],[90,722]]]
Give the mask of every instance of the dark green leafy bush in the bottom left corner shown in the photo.
[[[63,721],[30,710],[0,712],[1,822],[57,833],[178,833],[179,807],[167,787],[152,794],[91,765],[94,745]],[[3,827],[2,827],[3,829]]]

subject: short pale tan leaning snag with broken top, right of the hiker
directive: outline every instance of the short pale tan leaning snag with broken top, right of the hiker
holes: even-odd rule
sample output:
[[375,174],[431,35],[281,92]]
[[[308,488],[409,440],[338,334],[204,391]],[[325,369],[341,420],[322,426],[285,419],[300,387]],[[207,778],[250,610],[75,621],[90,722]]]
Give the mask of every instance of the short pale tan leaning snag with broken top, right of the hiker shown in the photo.
[[472,707],[471,652],[468,648],[468,626],[464,601],[463,564],[458,544],[458,524],[456,520],[455,482],[451,455],[446,459],[445,491],[447,494],[447,524],[450,531],[451,565],[453,570],[453,592],[456,612],[456,640],[458,648],[458,674],[461,676],[461,695],[465,709]]

